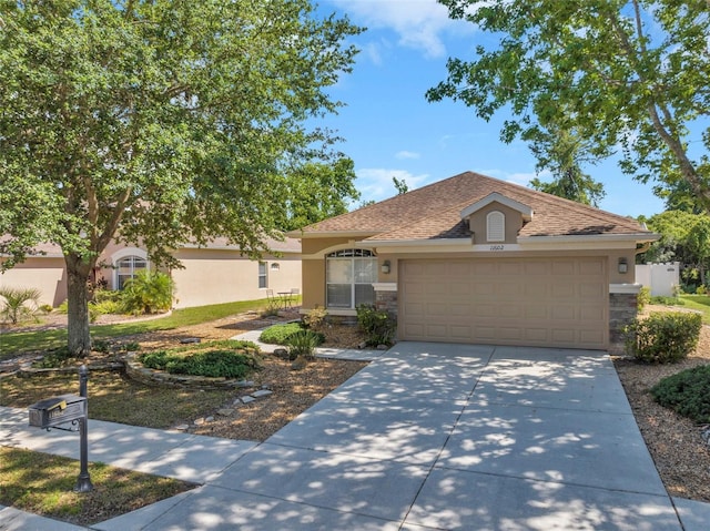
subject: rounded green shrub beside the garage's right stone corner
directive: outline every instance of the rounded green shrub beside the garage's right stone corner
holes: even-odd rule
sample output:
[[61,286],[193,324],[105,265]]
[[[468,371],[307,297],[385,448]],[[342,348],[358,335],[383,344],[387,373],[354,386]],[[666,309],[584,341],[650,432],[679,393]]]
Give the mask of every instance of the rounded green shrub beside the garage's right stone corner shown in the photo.
[[701,327],[700,314],[653,312],[626,327],[626,350],[649,364],[679,361],[698,346]]

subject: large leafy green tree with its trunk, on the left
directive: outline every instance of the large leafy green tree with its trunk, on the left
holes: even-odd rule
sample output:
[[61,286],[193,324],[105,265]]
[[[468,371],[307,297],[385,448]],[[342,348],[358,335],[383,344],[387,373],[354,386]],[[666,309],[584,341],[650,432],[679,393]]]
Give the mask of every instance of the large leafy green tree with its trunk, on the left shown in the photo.
[[280,235],[286,169],[339,157],[308,124],[341,105],[326,89],[359,31],[308,0],[0,0],[2,266],[61,246],[70,349],[89,348],[85,280],[112,238],[170,263],[187,241]]

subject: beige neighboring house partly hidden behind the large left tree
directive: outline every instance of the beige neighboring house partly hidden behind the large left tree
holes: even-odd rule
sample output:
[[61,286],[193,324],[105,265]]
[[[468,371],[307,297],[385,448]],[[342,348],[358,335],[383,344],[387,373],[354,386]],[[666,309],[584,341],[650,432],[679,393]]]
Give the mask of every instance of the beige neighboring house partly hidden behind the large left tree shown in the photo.
[[[241,254],[239,247],[216,239],[206,247],[183,246],[173,253],[182,269],[170,272],[175,283],[175,308],[255,300],[274,294],[301,289],[301,244],[297,239],[268,241],[271,253],[261,261]],[[0,275],[0,285],[37,287],[41,304],[59,306],[67,299],[67,270],[61,249],[41,245],[43,255],[30,256]],[[141,269],[150,269],[145,249],[111,244],[98,261],[95,280],[105,280],[109,289],[122,289],[125,280]]]

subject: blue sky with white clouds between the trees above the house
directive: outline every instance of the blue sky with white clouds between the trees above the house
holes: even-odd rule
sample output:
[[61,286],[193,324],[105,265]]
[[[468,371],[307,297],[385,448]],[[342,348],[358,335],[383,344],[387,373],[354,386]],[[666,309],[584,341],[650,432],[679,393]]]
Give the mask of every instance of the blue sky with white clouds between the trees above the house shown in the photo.
[[[354,38],[361,53],[353,73],[332,89],[346,106],[326,120],[355,162],[362,201],[395,195],[393,176],[409,190],[465,171],[521,185],[536,176],[527,144],[499,140],[506,116],[485,122],[460,102],[425,99],[446,79],[447,58],[473,58],[484,38],[473,24],[449,20],[435,0],[321,0],[321,8],[368,28]],[[663,211],[651,184],[622,174],[615,162],[587,171],[605,185],[602,210],[630,216]]]

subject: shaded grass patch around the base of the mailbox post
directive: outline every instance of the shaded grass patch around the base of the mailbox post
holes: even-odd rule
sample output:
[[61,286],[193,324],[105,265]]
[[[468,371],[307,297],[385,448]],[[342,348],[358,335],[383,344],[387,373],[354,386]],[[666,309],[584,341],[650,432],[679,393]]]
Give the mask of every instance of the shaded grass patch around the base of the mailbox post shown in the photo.
[[77,460],[0,447],[0,504],[92,525],[196,487],[184,481],[89,463],[93,490],[77,493]]

